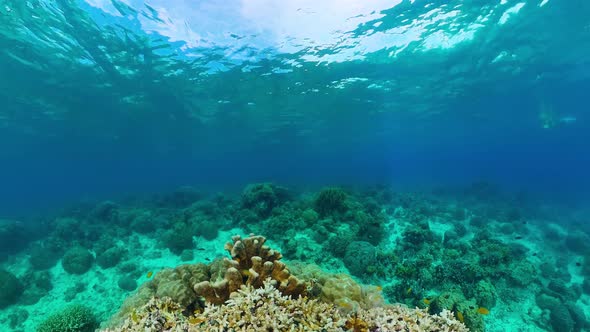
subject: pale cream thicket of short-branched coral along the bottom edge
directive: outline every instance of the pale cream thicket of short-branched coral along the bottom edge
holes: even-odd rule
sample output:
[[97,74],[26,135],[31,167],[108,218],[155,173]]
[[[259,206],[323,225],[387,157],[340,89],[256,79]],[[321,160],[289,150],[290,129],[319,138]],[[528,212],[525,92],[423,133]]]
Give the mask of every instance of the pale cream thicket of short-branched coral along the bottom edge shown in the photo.
[[275,284],[267,279],[261,288],[242,286],[225,304],[208,304],[202,313],[189,317],[180,314],[182,307],[170,299],[152,299],[122,326],[104,332],[468,331],[446,310],[430,315],[425,309],[386,306],[345,315],[331,303],[282,295]]

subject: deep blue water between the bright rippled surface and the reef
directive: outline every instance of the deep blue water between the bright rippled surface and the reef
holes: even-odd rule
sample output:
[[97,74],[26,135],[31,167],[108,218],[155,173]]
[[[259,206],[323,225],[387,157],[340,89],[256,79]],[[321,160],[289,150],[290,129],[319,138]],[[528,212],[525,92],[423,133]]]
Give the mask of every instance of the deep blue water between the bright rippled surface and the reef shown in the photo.
[[[401,24],[396,10],[419,14],[425,3],[394,7],[387,12],[390,21],[387,16],[382,20],[383,29]],[[481,5],[463,8],[478,15],[475,9]],[[62,2],[56,6],[69,8]],[[92,17],[108,18],[87,5],[81,8]],[[388,184],[424,189],[487,180],[555,201],[585,202],[590,195],[590,16],[584,16],[588,12],[582,1],[550,1],[544,7],[530,1],[512,25],[483,29],[455,49],[418,53],[419,46],[410,44],[414,50],[405,58],[384,64],[384,45],[383,51],[367,53],[364,61],[311,63],[303,66],[305,70],[260,74],[309,53],[302,51],[262,61],[257,64],[260,72],[244,72],[244,63],[198,84],[190,78],[199,77],[199,72],[188,72],[188,67],[182,67],[186,73],[177,78],[166,77],[182,62],[156,70],[145,55],[140,57],[140,76],[131,79],[93,74],[84,66],[72,69],[52,53],[40,58],[39,52],[31,51],[34,44],[14,35],[12,16],[3,13],[0,24],[8,28],[3,29],[5,52],[0,58],[0,216],[182,185],[238,191],[257,181],[301,188]],[[25,23],[32,22],[23,17]],[[131,25],[137,28],[137,22]],[[96,28],[76,30],[76,38],[87,42],[81,42],[83,49],[99,43],[92,37]],[[436,29],[441,26],[432,27]],[[362,35],[366,30],[361,25],[356,32]],[[126,56],[143,45],[123,37],[114,40],[122,43]],[[182,45],[177,44],[167,47]],[[524,44],[530,49],[523,51]],[[109,51],[117,47],[106,49],[105,54],[114,56]],[[529,55],[500,68],[476,65],[494,59],[500,50]],[[8,52],[31,61],[37,57],[44,69],[23,65]],[[210,59],[216,56],[212,50]],[[120,61],[132,67],[137,59]],[[457,69],[464,66],[468,68]],[[346,77],[368,77],[364,86],[386,79],[397,79],[400,85],[383,92],[356,85],[344,91],[321,90]],[[102,86],[108,82],[112,86]],[[301,94],[295,82],[320,92]],[[198,91],[190,90],[195,84]],[[418,85],[424,86],[423,95],[412,94]],[[183,87],[187,92],[179,93]],[[135,90],[141,102],[121,102]],[[274,92],[272,97],[268,91]],[[37,99],[59,115],[45,117],[47,106]],[[249,100],[255,100],[255,110],[247,106]],[[191,106],[185,104],[188,101]],[[391,103],[397,104],[384,106]],[[541,104],[549,105],[556,119],[569,116],[575,121],[543,128]],[[214,115],[209,117],[209,112]],[[208,120],[195,121],[195,113]],[[309,133],[301,134],[307,129]]]

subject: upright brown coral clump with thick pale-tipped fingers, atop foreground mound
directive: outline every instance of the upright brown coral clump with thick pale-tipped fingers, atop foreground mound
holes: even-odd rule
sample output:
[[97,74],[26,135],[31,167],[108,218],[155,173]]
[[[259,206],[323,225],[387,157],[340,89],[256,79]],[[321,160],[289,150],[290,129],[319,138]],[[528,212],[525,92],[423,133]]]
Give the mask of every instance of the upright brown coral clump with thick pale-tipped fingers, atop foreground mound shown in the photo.
[[260,288],[266,278],[277,281],[277,288],[283,295],[305,295],[307,285],[291,275],[286,265],[279,261],[282,258],[280,252],[264,245],[266,238],[250,235],[242,239],[236,235],[232,241],[225,244],[232,259],[224,260],[224,278],[194,286],[195,293],[204,297],[206,302],[222,304],[242,285]]

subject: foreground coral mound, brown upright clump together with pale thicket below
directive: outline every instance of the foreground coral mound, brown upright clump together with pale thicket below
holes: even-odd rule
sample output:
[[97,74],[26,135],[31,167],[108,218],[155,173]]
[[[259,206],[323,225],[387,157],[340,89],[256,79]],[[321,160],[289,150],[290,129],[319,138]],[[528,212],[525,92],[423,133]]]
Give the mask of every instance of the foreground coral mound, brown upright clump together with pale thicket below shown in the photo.
[[302,282],[280,262],[278,251],[264,245],[262,236],[232,240],[225,247],[232,260],[211,264],[213,277],[194,286],[208,302],[202,312],[154,298],[107,331],[467,331],[447,310],[430,315],[385,306],[380,287],[363,287],[346,275],[312,266],[302,274],[308,282]]

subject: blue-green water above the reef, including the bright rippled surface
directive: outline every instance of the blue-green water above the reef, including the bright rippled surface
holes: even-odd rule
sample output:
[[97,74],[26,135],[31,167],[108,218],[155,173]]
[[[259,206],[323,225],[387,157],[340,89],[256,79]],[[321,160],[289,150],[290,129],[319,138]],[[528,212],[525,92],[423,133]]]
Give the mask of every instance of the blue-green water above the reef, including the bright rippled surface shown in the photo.
[[590,2],[0,1],[0,217],[249,183],[590,202]]

